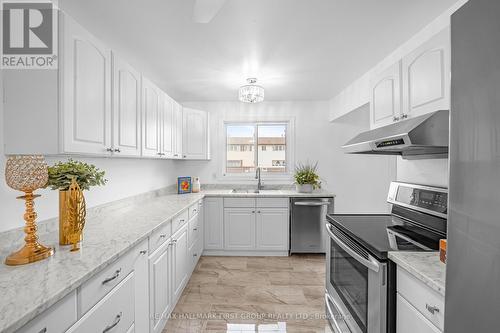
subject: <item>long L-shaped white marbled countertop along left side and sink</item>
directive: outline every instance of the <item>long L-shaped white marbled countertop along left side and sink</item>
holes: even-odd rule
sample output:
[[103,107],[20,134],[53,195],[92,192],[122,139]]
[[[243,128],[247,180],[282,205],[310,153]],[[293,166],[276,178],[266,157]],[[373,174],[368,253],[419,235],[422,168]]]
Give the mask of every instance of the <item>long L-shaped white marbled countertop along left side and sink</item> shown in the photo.
[[16,331],[205,196],[334,196],[322,191],[312,194],[289,190],[264,190],[259,194],[230,192],[212,189],[196,194],[166,194],[103,209],[87,218],[80,251],[70,252],[68,246],[58,246],[57,232],[42,234],[40,241],[55,245],[56,252],[47,260],[28,265],[3,264],[5,257],[22,244],[12,248],[6,245],[11,244],[8,237],[0,234],[0,332]]

